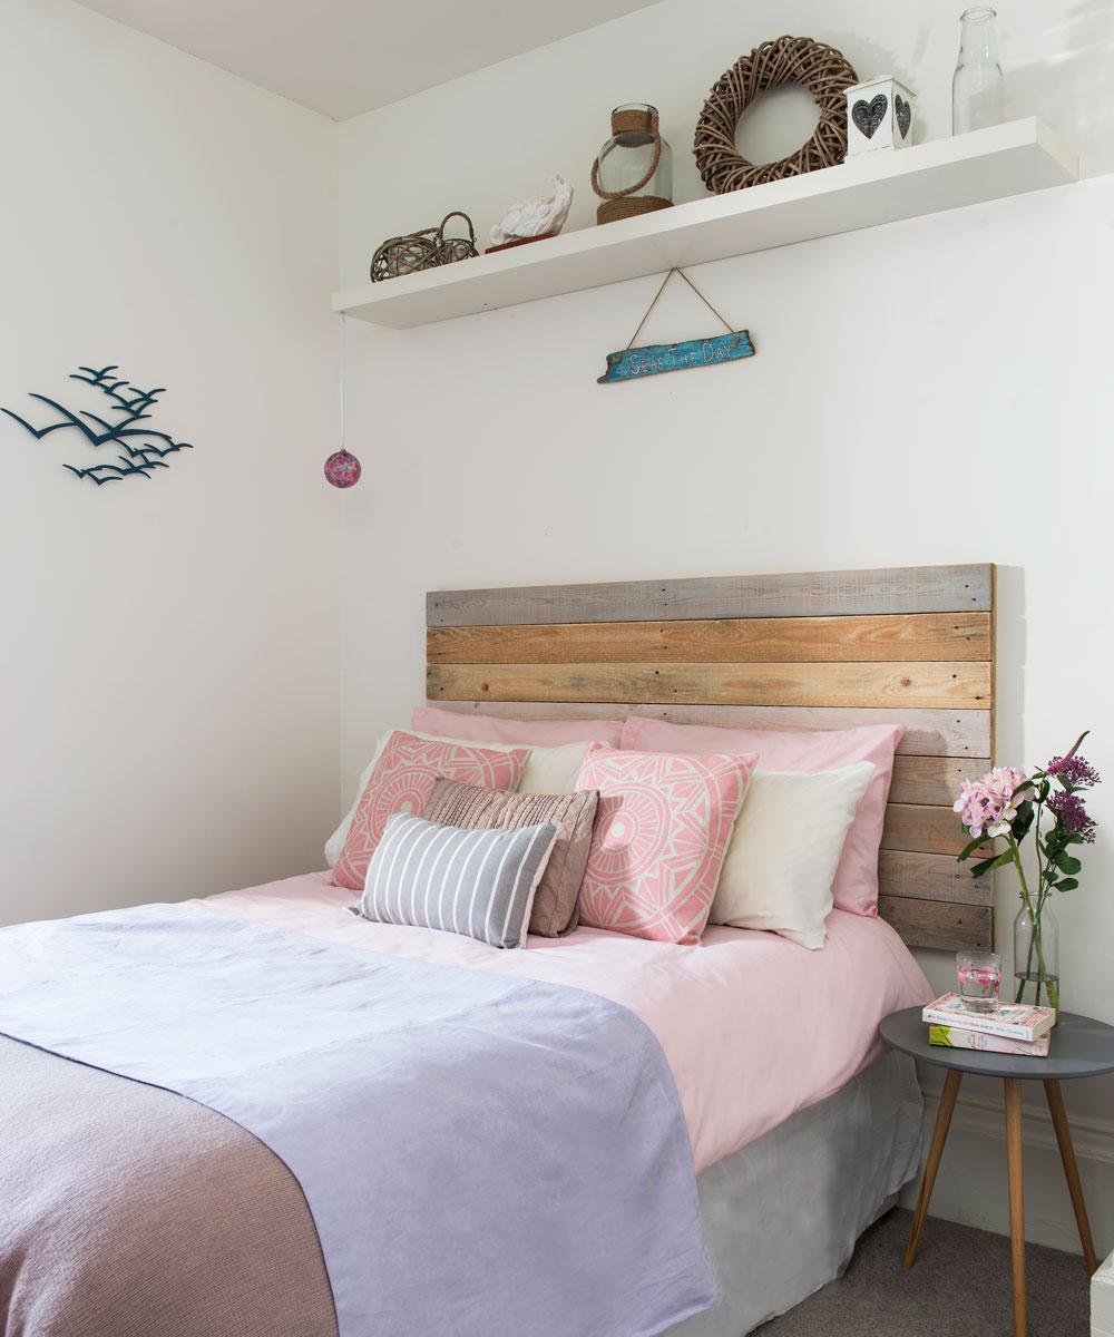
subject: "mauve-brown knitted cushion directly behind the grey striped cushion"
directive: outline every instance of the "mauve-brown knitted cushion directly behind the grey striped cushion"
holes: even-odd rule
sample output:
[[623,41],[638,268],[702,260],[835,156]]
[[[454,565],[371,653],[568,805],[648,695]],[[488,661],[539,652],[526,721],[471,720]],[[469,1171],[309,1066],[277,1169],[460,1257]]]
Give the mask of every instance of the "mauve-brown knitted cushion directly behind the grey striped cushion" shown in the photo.
[[508,794],[500,789],[439,779],[425,800],[421,816],[431,822],[471,830],[511,830],[556,822],[556,841],[534,897],[530,932],[560,937],[576,927],[576,901],[598,801],[599,794],[594,789],[572,794]]

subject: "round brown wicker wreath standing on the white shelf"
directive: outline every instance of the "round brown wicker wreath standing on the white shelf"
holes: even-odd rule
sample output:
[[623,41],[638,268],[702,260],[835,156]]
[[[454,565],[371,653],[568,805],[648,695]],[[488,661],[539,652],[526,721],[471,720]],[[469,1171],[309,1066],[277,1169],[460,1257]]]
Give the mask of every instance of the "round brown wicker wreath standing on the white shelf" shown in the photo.
[[[778,84],[808,88],[820,108],[820,123],[808,143],[777,163],[749,163],[736,148],[736,127],[754,99]],[[841,163],[847,155],[847,99],[859,76],[841,52],[809,37],[764,41],[713,86],[697,122],[693,151],[705,186],[726,195],[744,186],[797,176]]]

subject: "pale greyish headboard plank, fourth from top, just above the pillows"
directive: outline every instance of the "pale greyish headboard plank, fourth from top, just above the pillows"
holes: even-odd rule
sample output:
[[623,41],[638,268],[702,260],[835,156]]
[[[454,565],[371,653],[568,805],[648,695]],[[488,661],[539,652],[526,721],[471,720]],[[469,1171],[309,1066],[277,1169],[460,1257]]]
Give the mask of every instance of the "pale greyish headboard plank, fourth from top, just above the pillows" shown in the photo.
[[[510,719],[669,719],[675,725],[718,725],[737,729],[857,729],[864,725],[904,725],[897,754],[905,757],[986,757],[990,754],[988,710],[825,709],[822,706],[627,705],[626,702],[447,701],[429,706],[464,714]],[[978,774],[983,770],[976,767]]]

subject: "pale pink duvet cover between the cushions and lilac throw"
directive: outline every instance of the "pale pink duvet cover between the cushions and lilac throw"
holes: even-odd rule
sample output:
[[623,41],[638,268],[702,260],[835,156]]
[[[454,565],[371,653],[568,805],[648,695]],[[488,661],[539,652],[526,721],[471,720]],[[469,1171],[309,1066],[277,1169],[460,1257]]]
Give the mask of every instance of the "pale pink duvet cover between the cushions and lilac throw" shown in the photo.
[[309,873],[198,904],[349,947],[567,984],[630,1008],[673,1068],[697,1171],[837,1091],[881,1054],[881,1017],[932,997],[888,924],[844,910],[829,916],[817,952],[723,927],[709,927],[693,947],[578,928],[511,952],[357,920],[345,909],[353,893],[329,877]]

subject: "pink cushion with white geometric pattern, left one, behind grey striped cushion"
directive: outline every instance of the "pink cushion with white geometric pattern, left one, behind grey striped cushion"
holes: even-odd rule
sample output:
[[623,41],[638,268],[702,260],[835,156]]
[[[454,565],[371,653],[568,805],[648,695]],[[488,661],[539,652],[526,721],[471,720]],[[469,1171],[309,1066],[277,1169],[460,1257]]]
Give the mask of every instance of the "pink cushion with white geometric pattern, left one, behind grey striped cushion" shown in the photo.
[[341,857],[333,869],[333,885],[364,890],[368,864],[382,838],[386,818],[395,813],[421,813],[440,775],[459,779],[463,785],[514,789],[528,757],[528,747],[496,753],[484,747],[431,742],[396,729],[356,805]]

